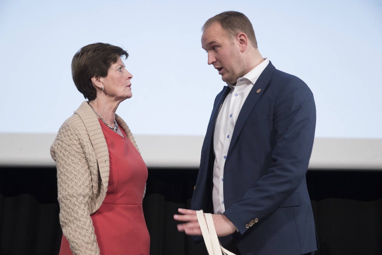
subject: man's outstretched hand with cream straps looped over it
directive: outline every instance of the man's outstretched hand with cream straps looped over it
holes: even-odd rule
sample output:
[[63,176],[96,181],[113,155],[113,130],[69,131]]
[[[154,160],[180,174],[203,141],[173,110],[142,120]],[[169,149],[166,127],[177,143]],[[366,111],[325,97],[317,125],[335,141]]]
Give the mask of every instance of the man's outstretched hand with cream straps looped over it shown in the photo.
[[[178,224],[178,231],[185,232],[187,235],[202,235],[199,222],[197,222],[196,211],[178,209],[181,214],[174,214],[176,221],[186,223]],[[235,225],[224,214],[212,214],[217,236],[230,235],[236,231]]]

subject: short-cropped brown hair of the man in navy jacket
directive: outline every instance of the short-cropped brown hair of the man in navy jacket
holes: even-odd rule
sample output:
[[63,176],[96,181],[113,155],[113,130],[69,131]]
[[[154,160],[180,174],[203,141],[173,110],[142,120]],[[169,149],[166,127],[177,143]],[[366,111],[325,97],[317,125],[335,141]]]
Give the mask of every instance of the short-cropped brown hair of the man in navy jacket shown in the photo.
[[257,41],[251,21],[243,13],[238,11],[224,11],[209,18],[202,27],[202,31],[207,29],[212,23],[219,22],[222,28],[227,31],[228,36],[235,37],[243,32],[248,36],[253,47],[257,49]]

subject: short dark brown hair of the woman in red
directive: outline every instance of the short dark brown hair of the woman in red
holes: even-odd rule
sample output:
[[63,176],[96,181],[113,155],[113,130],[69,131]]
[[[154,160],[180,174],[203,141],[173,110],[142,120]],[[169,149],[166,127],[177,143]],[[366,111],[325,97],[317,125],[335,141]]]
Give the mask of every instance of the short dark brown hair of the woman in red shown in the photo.
[[91,78],[106,77],[110,66],[118,57],[129,54],[121,47],[107,43],[93,43],[82,47],[74,54],[71,64],[73,82],[84,98],[92,101],[97,97]]

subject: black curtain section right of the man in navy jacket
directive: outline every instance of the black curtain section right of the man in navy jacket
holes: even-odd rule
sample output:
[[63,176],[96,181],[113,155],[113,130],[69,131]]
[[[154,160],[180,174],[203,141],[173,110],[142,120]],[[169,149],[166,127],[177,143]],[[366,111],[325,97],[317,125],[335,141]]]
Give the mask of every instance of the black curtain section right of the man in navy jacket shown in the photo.
[[382,255],[382,172],[308,171],[316,255]]

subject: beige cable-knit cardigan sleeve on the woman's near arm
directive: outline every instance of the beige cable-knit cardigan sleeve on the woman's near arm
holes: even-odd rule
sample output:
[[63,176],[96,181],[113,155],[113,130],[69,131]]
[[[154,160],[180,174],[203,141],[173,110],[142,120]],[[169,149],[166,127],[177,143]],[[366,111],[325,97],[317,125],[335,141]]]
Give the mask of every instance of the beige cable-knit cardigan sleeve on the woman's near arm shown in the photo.
[[92,194],[91,173],[86,159],[86,146],[79,132],[62,126],[50,148],[57,163],[60,224],[73,255],[98,255],[89,202]]

